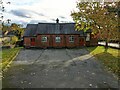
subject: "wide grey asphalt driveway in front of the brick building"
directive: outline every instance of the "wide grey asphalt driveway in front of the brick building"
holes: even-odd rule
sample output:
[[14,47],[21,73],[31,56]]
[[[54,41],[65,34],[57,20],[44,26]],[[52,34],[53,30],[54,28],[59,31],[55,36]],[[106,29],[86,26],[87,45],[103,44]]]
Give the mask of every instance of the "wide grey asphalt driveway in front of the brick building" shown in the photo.
[[86,49],[23,49],[3,78],[4,88],[118,88]]

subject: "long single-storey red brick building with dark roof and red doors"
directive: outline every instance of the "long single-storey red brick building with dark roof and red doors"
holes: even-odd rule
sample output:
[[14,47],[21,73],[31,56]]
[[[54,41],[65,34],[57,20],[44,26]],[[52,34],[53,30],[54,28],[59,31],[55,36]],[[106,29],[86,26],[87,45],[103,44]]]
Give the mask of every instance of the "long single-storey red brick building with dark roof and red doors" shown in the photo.
[[91,30],[76,31],[75,23],[38,23],[28,24],[23,36],[24,46],[29,47],[81,47],[97,45],[91,37]]

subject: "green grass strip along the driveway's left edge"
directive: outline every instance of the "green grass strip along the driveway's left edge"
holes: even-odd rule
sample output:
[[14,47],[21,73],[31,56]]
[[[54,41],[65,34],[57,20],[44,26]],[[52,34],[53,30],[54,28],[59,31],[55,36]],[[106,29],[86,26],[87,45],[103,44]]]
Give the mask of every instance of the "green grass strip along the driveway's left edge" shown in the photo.
[[20,49],[21,48],[18,47],[2,50],[2,62],[0,63],[2,69],[4,69],[11,60],[13,60],[13,57],[20,51]]

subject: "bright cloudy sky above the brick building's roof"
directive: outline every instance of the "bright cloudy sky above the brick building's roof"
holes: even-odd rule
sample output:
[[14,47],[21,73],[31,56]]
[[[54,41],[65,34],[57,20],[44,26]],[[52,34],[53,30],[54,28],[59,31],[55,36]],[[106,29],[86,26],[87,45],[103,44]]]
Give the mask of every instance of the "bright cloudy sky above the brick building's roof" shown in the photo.
[[[11,2],[11,4],[6,4]],[[55,23],[74,22],[70,16],[76,9],[77,0],[4,0],[4,21],[11,19],[11,23],[36,24],[38,22]]]

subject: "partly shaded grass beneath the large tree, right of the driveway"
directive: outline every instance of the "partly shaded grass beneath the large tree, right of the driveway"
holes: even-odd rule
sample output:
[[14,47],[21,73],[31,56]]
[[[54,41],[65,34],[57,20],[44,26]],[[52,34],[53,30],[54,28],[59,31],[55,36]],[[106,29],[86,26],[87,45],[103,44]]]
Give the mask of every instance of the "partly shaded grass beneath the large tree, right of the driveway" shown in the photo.
[[118,55],[120,50],[108,48],[105,49],[104,46],[97,46],[97,47],[87,47],[87,50],[97,58],[97,60],[101,61],[106,69],[112,71],[115,74],[120,74],[119,68],[119,59],[120,56]]

